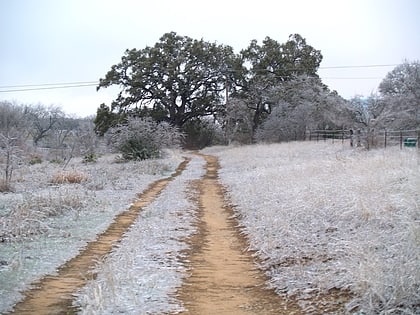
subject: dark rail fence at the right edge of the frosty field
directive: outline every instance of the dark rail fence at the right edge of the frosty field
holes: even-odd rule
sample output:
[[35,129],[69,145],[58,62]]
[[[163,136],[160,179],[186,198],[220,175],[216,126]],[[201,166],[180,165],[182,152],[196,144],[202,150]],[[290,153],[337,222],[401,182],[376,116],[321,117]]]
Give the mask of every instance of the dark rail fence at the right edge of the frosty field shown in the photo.
[[379,148],[389,146],[417,147],[420,149],[420,129],[416,130],[309,130],[306,133],[309,141],[341,141],[350,146]]

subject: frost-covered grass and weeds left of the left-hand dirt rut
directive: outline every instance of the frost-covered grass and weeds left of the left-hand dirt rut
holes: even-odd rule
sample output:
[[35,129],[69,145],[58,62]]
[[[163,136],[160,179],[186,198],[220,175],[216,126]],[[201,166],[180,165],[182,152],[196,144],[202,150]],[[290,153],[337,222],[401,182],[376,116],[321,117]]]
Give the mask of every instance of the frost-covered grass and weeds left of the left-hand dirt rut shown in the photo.
[[[138,193],[181,161],[180,152],[172,151],[141,162],[114,163],[112,155],[91,164],[74,159],[65,172],[49,162],[16,169],[14,192],[0,193],[0,313],[32,282],[77,255]],[[58,180],[65,178],[71,180]]]

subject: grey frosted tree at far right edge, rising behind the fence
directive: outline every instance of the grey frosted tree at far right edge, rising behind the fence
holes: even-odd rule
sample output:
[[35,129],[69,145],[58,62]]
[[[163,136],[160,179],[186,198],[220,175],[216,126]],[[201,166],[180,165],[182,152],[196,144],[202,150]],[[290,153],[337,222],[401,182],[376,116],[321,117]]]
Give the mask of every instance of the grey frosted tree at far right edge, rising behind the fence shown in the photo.
[[379,85],[383,110],[378,123],[384,128],[420,127],[420,62],[404,62]]

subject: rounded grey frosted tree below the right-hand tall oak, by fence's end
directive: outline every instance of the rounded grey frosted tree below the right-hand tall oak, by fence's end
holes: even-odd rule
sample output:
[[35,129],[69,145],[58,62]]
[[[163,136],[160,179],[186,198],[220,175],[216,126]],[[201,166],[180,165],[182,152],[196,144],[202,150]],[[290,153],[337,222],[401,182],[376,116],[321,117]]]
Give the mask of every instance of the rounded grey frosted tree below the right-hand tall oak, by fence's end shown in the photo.
[[330,92],[317,77],[296,77],[274,87],[271,94],[272,112],[258,127],[257,141],[302,140],[309,129],[352,125],[348,102]]

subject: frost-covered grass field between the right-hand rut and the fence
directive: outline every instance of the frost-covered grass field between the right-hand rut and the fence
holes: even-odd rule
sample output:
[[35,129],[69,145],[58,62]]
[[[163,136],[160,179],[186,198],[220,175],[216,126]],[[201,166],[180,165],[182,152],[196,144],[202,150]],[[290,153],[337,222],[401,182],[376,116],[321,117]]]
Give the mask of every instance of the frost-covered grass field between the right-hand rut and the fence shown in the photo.
[[221,181],[279,294],[308,301],[344,289],[348,313],[420,313],[416,149],[300,142],[205,152],[220,157]]

